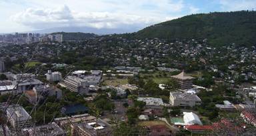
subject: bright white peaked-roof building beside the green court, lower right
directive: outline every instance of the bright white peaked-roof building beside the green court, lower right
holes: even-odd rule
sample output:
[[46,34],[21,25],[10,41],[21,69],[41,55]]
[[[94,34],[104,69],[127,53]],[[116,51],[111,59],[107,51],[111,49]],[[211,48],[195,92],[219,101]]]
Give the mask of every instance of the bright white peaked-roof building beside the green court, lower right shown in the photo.
[[184,125],[203,125],[195,113],[183,112],[183,115]]

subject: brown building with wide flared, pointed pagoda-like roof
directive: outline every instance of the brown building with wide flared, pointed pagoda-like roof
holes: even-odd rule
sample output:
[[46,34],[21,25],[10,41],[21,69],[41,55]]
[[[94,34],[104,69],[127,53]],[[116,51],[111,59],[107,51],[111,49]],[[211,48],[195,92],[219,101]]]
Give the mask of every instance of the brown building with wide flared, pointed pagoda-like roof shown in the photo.
[[185,72],[182,71],[178,75],[171,76],[179,84],[180,89],[191,89],[193,84],[194,77],[185,75]]

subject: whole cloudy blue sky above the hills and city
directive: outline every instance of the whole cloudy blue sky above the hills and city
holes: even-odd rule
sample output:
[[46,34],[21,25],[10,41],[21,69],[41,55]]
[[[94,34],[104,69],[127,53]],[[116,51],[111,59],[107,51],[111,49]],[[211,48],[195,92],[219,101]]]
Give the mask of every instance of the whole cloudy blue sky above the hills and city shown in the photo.
[[256,10],[256,0],[0,0],[0,33],[55,27],[127,28],[214,11]]

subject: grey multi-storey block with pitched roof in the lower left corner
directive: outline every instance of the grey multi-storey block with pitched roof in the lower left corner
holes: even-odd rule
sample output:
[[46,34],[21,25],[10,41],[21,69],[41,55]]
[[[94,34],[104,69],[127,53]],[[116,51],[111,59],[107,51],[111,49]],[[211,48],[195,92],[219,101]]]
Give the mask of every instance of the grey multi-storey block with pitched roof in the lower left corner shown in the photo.
[[19,105],[10,105],[7,110],[7,119],[13,129],[31,127],[32,117]]

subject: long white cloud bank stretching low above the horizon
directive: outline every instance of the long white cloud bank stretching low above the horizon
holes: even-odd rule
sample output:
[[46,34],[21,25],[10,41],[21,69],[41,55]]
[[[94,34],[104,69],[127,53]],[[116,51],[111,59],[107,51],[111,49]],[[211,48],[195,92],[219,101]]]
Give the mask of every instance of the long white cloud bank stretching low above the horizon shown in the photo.
[[153,23],[165,21],[167,17],[151,17],[121,12],[80,12],[72,11],[67,5],[64,5],[57,9],[28,8],[25,11],[11,16],[11,19],[17,23],[35,29],[47,29],[52,27],[95,27],[100,29],[119,28],[124,25],[145,27]]

